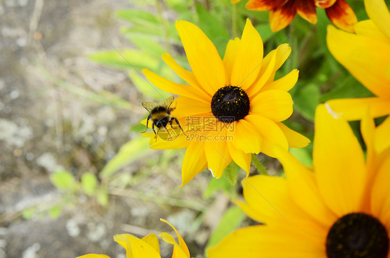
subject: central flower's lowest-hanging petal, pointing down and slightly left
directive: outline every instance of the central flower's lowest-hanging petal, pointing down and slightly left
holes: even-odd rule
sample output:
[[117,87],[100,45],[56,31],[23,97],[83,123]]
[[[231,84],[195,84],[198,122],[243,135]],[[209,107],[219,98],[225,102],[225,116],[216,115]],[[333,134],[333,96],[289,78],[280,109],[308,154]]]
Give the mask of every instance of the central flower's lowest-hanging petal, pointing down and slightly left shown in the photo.
[[205,143],[192,141],[185,151],[183,166],[181,168],[182,184],[185,186],[195,175],[207,168],[205,156]]

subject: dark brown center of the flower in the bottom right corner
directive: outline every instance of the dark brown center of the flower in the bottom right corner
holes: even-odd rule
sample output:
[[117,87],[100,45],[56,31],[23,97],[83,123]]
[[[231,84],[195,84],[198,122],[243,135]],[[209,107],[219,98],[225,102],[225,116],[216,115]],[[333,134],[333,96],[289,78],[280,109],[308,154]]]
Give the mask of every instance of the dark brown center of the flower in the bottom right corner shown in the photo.
[[330,227],[326,255],[328,258],[386,258],[389,255],[386,227],[371,215],[347,214]]

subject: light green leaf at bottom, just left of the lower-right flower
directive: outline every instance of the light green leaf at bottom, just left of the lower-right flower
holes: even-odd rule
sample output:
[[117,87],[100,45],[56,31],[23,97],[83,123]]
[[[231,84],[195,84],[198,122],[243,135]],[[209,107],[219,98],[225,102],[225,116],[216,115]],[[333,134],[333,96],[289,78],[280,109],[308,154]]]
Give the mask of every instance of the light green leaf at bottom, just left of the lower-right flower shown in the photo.
[[221,239],[223,239],[224,236],[228,235],[230,232],[239,227],[242,221],[244,221],[245,217],[246,216],[244,212],[242,212],[242,210],[237,206],[233,206],[228,209],[225,214],[223,214],[223,217],[221,218],[217,228],[214,230],[214,232],[212,232],[210,240],[207,243],[207,248],[215,246],[217,243],[219,243],[219,241],[221,241]]

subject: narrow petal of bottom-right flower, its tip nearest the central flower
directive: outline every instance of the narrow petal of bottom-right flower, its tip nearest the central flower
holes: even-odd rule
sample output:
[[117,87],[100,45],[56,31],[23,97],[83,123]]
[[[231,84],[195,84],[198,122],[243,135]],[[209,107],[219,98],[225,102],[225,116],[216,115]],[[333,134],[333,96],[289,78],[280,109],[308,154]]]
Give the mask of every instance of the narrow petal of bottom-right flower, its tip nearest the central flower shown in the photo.
[[316,185],[314,173],[286,150],[275,148],[278,159],[283,165],[286,174],[287,184],[291,199],[294,200],[301,209],[321,223],[321,225],[332,225],[337,217],[328,209],[323,202],[321,193]]

